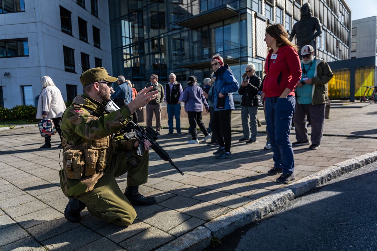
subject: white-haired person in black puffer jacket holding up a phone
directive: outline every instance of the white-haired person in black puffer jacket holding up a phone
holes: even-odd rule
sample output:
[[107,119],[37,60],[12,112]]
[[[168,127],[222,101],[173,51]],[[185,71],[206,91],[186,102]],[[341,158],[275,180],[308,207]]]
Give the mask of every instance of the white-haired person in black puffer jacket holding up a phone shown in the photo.
[[259,88],[261,88],[262,80],[255,74],[255,65],[251,63],[246,65],[245,73],[242,77],[245,79],[242,81],[238,93],[242,96],[241,119],[244,137],[239,141],[246,142],[246,144],[253,144],[258,142],[257,112],[258,106],[262,105],[258,91]]

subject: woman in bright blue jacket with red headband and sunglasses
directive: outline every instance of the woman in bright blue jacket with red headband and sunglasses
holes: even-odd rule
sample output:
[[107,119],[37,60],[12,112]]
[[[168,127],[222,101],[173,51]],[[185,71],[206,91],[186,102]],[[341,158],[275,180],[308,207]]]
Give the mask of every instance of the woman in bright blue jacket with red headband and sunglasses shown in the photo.
[[215,112],[211,121],[211,128],[220,145],[219,149],[213,154],[218,159],[231,158],[232,132],[230,120],[231,111],[234,110],[233,92],[238,91],[239,85],[229,66],[224,65],[224,60],[219,54],[212,57],[211,67],[215,71],[213,76],[216,78],[212,92]]

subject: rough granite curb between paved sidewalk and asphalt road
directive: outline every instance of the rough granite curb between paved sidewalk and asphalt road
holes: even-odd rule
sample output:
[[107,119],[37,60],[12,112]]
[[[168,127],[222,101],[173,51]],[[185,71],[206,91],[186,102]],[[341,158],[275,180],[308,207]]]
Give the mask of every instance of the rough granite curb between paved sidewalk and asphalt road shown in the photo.
[[167,243],[157,249],[157,251],[201,251],[210,245],[212,238],[221,239],[238,228],[254,221],[262,220],[271,212],[284,207],[297,196],[303,195],[317,187],[324,186],[329,181],[374,161],[377,161],[377,151],[329,166],[286,187],[277,189],[269,195],[223,214]]

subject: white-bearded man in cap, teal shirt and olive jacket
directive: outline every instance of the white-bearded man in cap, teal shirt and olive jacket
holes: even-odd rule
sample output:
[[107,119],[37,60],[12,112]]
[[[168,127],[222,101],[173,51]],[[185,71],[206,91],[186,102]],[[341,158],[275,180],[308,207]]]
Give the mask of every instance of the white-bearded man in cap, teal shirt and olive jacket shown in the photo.
[[293,118],[297,142],[292,143],[292,146],[310,145],[306,126],[309,116],[311,123],[309,149],[316,150],[322,141],[328,101],[327,83],[333,77],[333,72],[325,60],[314,56],[313,46],[303,46],[301,56],[302,77],[295,91],[296,110]]

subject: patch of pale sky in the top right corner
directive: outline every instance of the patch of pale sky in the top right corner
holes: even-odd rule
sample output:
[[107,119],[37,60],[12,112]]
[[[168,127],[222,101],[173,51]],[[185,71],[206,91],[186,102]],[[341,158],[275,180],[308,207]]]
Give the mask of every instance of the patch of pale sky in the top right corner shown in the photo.
[[377,0],[346,0],[351,7],[352,20],[377,16]]

